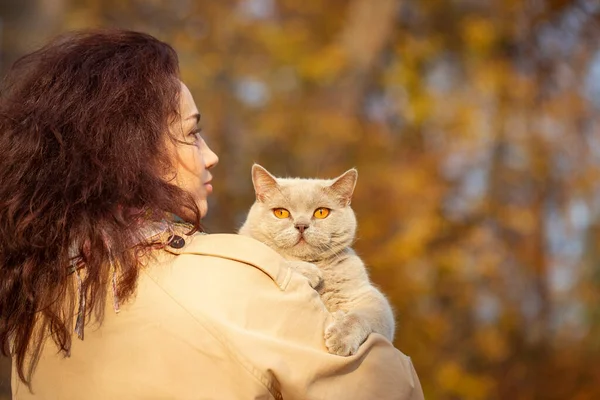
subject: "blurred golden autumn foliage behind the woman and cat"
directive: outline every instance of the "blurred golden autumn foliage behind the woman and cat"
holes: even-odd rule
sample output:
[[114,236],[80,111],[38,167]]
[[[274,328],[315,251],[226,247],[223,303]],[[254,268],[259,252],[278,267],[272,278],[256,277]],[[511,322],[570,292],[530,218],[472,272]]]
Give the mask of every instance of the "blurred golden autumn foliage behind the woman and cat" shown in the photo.
[[426,398],[600,399],[599,22],[587,0],[1,0],[0,73],[71,29],[171,43],[221,157],[210,231],[244,220],[253,162],[357,167],[355,248]]

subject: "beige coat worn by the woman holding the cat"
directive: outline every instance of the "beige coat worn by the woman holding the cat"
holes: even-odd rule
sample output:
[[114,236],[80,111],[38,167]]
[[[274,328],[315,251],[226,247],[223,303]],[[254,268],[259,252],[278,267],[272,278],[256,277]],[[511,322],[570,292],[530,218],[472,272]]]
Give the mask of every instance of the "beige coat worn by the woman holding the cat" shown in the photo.
[[410,359],[383,336],[328,354],[319,295],[269,247],[224,234],[185,242],[161,251],[136,297],[86,327],[70,358],[45,346],[34,394],[13,377],[13,398],[423,398]]

